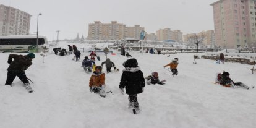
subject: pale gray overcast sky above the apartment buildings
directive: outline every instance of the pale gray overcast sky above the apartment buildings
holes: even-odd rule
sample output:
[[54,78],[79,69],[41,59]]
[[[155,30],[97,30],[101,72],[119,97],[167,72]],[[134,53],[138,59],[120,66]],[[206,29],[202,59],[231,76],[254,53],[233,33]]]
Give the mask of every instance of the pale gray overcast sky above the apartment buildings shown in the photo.
[[28,12],[30,33],[36,32],[39,16],[39,35],[48,40],[88,36],[88,24],[117,21],[127,26],[139,24],[147,33],[159,28],[179,29],[183,34],[213,30],[211,3],[218,0],[0,0],[0,4]]

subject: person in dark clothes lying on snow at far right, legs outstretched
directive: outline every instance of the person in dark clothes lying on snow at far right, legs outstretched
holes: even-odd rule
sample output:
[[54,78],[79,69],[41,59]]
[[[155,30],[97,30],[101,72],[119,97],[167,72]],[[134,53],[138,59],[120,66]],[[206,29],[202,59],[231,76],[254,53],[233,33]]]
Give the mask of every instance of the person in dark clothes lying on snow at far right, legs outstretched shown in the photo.
[[[245,85],[242,82],[234,82],[233,80],[231,80],[231,78],[229,77],[229,73],[228,72],[223,72],[223,74],[218,73],[216,79],[215,79],[215,83],[220,83],[220,85],[223,85],[224,87],[241,87],[241,88],[245,88],[245,89],[249,89],[250,87]],[[254,87],[252,87],[254,88]]]

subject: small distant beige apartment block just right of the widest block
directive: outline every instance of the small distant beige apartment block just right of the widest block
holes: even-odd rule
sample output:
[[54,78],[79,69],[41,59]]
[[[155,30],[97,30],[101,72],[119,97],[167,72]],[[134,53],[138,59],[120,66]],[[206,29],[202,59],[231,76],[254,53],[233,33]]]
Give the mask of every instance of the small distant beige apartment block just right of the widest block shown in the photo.
[[183,33],[181,30],[172,31],[170,28],[159,29],[156,31],[158,40],[175,40],[182,41]]

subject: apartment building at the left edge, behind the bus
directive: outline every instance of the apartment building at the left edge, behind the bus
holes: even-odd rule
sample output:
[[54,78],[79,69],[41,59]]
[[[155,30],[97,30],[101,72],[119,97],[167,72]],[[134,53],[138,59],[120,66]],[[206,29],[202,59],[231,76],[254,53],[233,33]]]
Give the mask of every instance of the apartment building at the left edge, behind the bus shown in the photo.
[[28,35],[30,17],[27,12],[0,5],[0,35]]

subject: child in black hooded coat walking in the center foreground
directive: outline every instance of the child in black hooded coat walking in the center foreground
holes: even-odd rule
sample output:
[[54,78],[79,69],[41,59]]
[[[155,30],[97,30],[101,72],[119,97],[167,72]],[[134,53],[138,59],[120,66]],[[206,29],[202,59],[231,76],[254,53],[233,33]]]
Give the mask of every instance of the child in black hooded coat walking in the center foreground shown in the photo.
[[126,88],[126,93],[129,95],[128,108],[132,108],[134,114],[140,113],[137,94],[142,93],[145,87],[143,73],[138,66],[137,60],[134,58],[128,59],[122,65],[125,68],[120,80],[120,91],[124,94],[124,88]]

